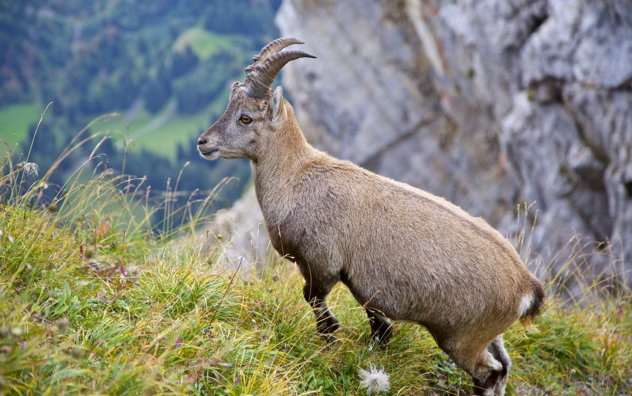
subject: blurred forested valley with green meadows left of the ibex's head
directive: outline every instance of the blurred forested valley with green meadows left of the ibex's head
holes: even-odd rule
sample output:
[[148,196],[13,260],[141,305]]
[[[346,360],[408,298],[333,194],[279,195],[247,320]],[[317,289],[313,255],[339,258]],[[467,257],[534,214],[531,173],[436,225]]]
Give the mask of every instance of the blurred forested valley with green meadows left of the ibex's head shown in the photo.
[[[152,191],[159,192],[168,178],[173,187],[190,161],[178,190],[203,194],[235,176],[217,202],[229,206],[248,182],[248,161],[205,161],[195,142],[224,111],[229,84],[243,78],[252,55],[277,37],[279,3],[3,1],[0,139],[9,150],[17,145],[17,156],[26,154],[40,114],[54,102],[29,159],[45,171],[87,123],[116,111],[122,119],[106,126],[113,139],[97,151],[106,154],[107,168],[146,175]],[[54,195],[93,147],[84,145],[61,164],[47,195]]]

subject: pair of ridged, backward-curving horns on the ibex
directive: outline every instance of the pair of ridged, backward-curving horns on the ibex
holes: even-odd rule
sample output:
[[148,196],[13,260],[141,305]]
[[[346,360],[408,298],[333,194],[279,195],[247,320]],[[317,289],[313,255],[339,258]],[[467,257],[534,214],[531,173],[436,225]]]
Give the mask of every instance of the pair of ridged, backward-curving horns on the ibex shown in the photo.
[[265,46],[257,56],[253,57],[255,62],[246,68],[244,81],[246,89],[252,96],[265,97],[274,78],[289,61],[298,58],[316,58],[305,51],[281,51],[291,44],[303,44],[303,42],[293,37],[282,37]]

